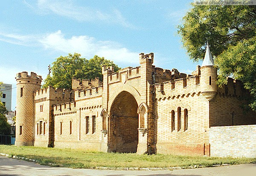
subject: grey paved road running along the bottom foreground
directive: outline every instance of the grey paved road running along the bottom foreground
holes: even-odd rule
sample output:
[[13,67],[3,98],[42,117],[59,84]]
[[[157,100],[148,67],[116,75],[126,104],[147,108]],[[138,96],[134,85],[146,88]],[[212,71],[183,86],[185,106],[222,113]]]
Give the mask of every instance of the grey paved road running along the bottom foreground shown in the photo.
[[256,176],[256,164],[181,170],[92,170],[49,167],[0,156],[0,176]]

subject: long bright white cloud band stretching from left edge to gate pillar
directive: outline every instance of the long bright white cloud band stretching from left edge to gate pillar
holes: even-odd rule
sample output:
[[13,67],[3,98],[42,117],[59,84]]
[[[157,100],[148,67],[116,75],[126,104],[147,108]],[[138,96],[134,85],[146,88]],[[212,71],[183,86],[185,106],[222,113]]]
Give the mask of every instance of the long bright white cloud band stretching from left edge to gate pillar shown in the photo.
[[24,46],[43,46],[45,49],[61,51],[64,54],[77,52],[87,59],[98,55],[119,65],[138,64],[139,53],[129,51],[120,43],[97,40],[87,35],[66,38],[61,30],[41,35],[19,35],[0,32],[0,40]]

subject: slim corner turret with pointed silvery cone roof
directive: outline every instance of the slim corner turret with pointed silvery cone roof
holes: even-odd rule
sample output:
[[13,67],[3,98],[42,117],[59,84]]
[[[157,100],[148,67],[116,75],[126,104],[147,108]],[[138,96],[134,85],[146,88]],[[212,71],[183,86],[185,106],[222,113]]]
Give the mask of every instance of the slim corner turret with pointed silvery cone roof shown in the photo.
[[211,101],[212,98],[214,98],[217,94],[217,68],[214,66],[208,42],[204,61],[202,66],[200,67],[200,72],[200,87],[202,87],[202,94],[208,101]]

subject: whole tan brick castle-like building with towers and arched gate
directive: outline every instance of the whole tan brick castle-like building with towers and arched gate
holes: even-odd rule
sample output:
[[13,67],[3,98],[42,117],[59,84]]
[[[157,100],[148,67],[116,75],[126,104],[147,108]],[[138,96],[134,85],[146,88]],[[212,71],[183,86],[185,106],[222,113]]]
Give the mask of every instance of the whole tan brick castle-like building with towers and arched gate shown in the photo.
[[41,76],[18,73],[15,145],[209,156],[211,127],[256,124],[240,81],[217,87],[208,44],[191,75],[153,61],[141,53],[140,66],[102,66],[102,82],[73,79],[73,90],[41,89]]

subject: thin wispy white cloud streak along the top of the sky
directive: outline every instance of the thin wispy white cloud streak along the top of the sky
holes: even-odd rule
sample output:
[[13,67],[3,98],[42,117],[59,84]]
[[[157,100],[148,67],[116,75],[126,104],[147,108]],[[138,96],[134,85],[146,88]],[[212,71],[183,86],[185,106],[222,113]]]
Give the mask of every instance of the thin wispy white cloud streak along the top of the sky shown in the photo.
[[111,9],[111,12],[102,12],[100,9],[91,7],[76,6],[73,0],[38,0],[37,6],[32,6],[23,0],[24,4],[36,13],[57,14],[78,21],[102,21],[105,23],[117,23],[119,25],[135,28],[134,25],[122,16],[117,9]]

